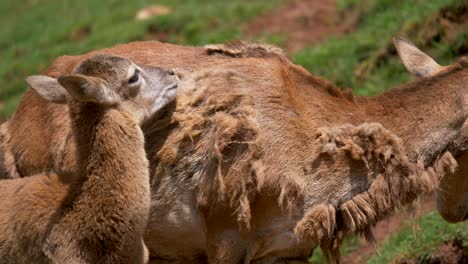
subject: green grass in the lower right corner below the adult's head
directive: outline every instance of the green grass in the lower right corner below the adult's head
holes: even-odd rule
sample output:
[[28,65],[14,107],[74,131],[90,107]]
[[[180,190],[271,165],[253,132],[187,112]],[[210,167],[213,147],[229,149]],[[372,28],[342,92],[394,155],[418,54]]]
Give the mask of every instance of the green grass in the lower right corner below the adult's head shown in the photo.
[[[420,231],[413,232],[414,222],[419,224]],[[455,238],[464,241],[468,249],[468,223],[449,224],[438,213],[432,212],[419,219],[408,221],[403,228],[383,243],[380,255],[374,254],[367,263],[387,264],[397,258],[417,258],[430,256],[437,246]]]

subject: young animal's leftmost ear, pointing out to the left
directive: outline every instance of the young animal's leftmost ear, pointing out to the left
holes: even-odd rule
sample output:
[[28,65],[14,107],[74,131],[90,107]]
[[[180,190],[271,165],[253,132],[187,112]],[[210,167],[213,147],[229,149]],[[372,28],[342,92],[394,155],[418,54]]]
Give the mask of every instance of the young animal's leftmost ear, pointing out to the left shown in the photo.
[[26,78],[26,83],[46,100],[59,104],[67,102],[67,91],[55,78],[32,75]]

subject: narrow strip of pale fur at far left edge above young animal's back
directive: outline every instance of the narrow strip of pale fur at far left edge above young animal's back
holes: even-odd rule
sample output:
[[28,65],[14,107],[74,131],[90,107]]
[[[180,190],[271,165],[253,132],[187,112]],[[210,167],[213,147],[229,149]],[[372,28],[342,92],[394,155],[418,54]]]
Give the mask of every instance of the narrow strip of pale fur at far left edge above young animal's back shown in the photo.
[[8,122],[0,125],[0,179],[20,178],[16,168],[15,157],[11,150],[11,134],[7,129]]

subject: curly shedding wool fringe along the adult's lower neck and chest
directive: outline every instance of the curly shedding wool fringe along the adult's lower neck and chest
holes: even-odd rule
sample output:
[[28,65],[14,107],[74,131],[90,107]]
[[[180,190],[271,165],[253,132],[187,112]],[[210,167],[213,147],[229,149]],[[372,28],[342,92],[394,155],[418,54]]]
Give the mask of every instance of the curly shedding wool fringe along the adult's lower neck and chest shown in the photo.
[[[449,152],[429,167],[421,160],[411,161],[400,138],[379,123],[320,128],[316,140],[322,153],[334,156],[345,152],[368,168],[378,167],[380,172],[367,191],[339,208],[316,206],[296,226],[296,234],[319,243],[330,262],[338,261],[339,246],[346,235],[361,234],[374,241],[373,225],[419,195],[434,191],[441,177],[454,173],[457,167]],[[335,211],[336,219],[330,216]],[[328,223],[332,220],[335,229],[330,235]]]

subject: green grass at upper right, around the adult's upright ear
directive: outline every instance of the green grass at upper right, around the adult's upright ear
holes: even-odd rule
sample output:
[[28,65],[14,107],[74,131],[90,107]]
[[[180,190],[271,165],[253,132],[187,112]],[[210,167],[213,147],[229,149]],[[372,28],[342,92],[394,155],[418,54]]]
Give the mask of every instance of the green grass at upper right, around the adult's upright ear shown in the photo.
[[[460,0],[341,0],[339,6],[360,8],[363,14],[358,30],[342,37],[332,37],[319,45],[296,54],[295,62],[312,73],[324,76],[342,88],[352,88],[359,95],[375,95],[410,79],[395,56],[379,57],[379,52],[391,50],[391,39],[401,33],[413,41],[421,39],[421,32],[440,25],[426,25],[442,8],[456,8]],[[466,43],[466,34],[460,33],[458,45]],[[456,55],[456,42],[446,39],[440,43],[423,43],[423,48],[441,63],[448,63]],[[383,53],[385,54],[385,53]],[[367,69],[367,71],[366,71]]]

